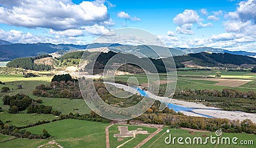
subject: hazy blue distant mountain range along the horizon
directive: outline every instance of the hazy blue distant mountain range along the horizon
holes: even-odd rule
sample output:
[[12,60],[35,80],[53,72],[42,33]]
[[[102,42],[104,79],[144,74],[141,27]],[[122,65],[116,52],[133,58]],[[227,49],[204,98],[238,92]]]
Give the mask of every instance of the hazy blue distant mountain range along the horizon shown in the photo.
[[[108,47],[109,50],[114,52],[129,52],[136,51],[142,54],[145,54],[147,57],[159,58],[166,57],[166,53],[161,53],[159,51],[163,50],[164,47],[150,45],[157,52],[161,53],[157,55],[154,50],[146,45],[121,45],[118,43],[93,43],[88,45],[73,45],[73,44],[59,44],[55,45],[52,43],[10,43],[8,41],[0,40],[0,61],[10,61],[18,57],[33,57],[42,54],[51,54],[60,50],[81,50],[81,49],[92,49]],[[182,56],[191,53],[200,53],[200,52],[213,52],[213,53],[229,53],[243,56],[256,56],[254,52],[245,52],[245,51],[229,51],[220,48],[211,48],[211,47],[200,47],[200,48],[169,48],[172,56]]]

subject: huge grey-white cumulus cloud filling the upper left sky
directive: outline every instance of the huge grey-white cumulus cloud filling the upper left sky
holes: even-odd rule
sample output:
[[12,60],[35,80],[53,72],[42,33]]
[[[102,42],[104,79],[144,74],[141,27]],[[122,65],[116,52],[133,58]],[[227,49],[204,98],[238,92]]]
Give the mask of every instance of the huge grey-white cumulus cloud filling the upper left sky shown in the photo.
[[28,28],[44,27],[56,31],[93,26],[109,20],[104,1],[0,0],[0,23]]

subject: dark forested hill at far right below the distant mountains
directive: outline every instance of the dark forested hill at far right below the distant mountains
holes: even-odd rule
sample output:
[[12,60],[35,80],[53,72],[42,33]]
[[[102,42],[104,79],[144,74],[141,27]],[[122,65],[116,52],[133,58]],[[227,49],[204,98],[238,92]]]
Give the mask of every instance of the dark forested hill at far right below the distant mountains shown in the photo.
[[207,53],[200,52],[196,54],[188,54],[187,56],[174,57],[175,62],[183,63],[193,61],[193,63],[200,66],[226,66],[227,64],[241,65],[241,64],[256,64],[256,59],[248,56],[241,56],[228,53]]

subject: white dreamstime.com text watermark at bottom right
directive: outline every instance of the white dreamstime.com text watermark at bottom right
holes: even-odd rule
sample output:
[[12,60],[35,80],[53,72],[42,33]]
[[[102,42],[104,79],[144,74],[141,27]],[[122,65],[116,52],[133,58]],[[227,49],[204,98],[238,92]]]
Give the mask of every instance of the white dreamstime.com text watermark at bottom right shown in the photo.
[[[170,129],[166,130],[166,133],[169,133]],[[210,136],[210,137],[172,137],[172,134],[169,134],[169,137],[164,138],[165,144],[221,144],[221,145],[253,145],[253,140],[239,140],[237,137],[222,137],[223,133],[219,129],[215,132],[216,136]]]

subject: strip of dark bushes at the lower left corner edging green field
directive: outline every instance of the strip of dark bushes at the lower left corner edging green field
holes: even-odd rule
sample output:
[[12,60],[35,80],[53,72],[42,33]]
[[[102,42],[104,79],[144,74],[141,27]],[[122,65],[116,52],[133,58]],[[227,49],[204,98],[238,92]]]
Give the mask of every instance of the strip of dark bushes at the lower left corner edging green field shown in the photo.
[[26,131],[26,129],[19,129],[16,126],[9,126],[8,124],[4,124],[3,121],[0,120],[0,133],[3,135],[15,136],[20,138],[49,138],[51,135],[43,129],[42,134],[32,134],[30,131]]

